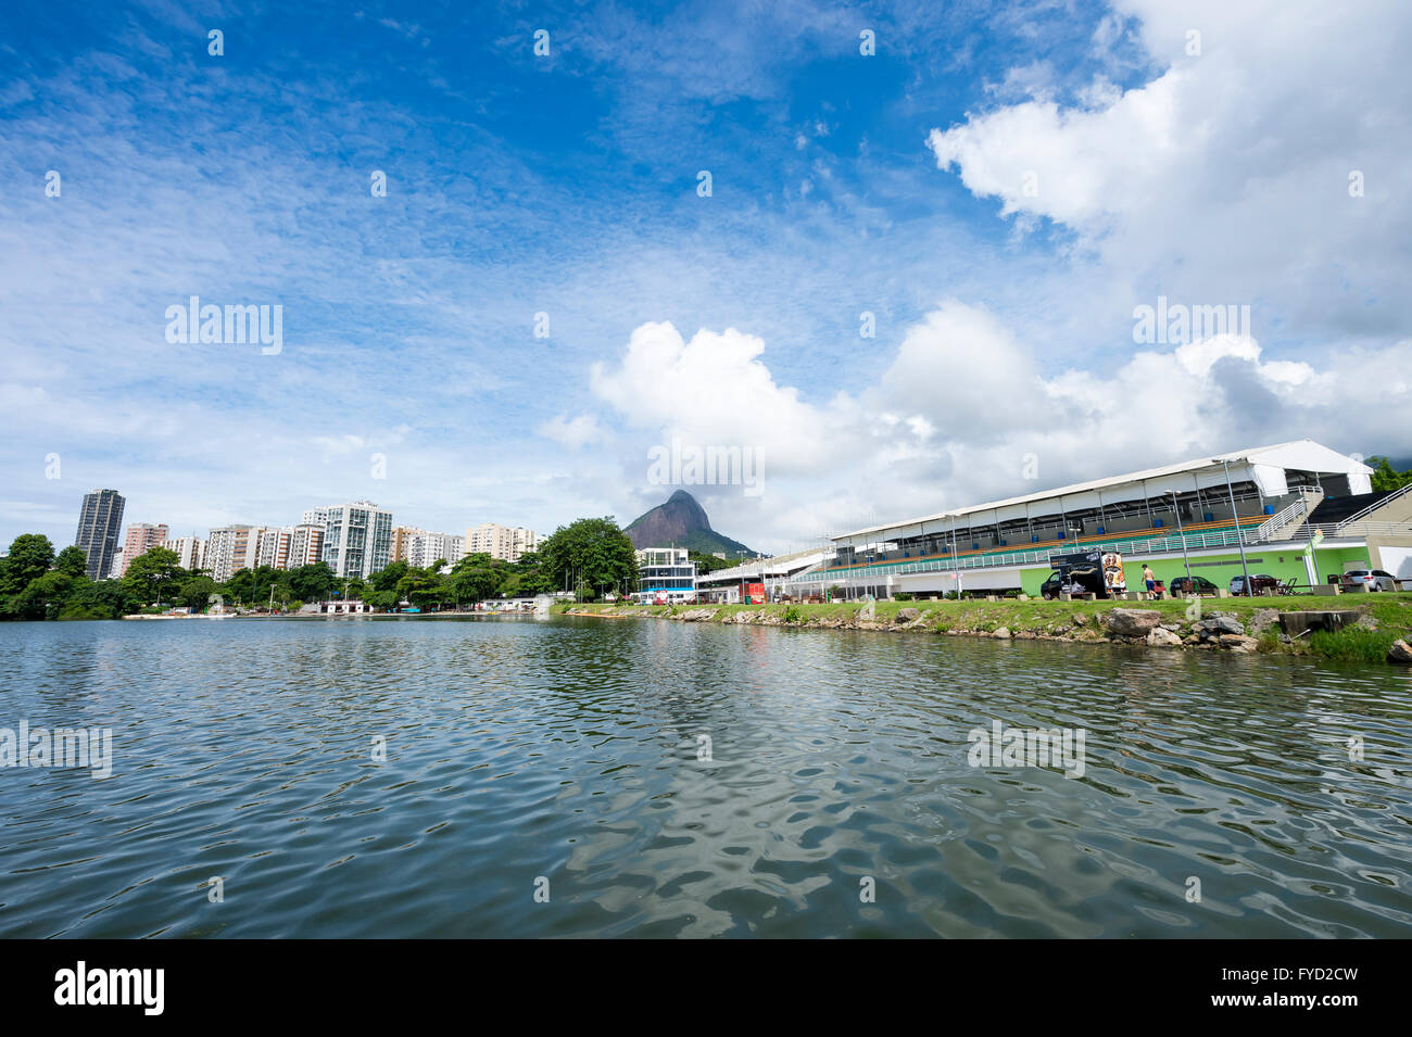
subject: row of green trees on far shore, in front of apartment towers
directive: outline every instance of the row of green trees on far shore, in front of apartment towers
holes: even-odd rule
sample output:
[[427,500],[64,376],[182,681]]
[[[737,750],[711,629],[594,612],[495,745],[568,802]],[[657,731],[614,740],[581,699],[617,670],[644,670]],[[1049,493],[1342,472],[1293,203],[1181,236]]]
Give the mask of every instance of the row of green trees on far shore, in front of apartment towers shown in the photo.
[[[182,607],[274,605],[294,611],[308,602],[361,600],[374,610],[408,602],[422,611],[460,608],[497,597],[569,591],[580,601],[626,594],[637,583],[633,542],[611,516],[559,526],[539,550],[504,562],[476,553],[448,569],[438,559],[425,569],[394,562],[367,580],[340,580],[326,562],[297,569],[240,569],[217,583],[203,569],[184,569],[176,552],[152,547],[138,554],[119,580],[89,580],[78,546],[55,552],[49,538],[21,533],[0,557],[0,619],[116,619],[136,612]],[[442,571],[446,570],[446,571]]]

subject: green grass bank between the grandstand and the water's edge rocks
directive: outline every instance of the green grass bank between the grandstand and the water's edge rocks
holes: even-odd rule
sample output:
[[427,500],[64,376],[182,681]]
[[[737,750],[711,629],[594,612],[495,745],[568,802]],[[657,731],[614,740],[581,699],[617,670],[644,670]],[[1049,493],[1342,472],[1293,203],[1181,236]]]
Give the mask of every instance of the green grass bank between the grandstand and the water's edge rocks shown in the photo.
[[[1382,662],[1394,641],[1412,638],[1412,594],[1340,595],[1336,598],[1202,598],[1196,615],[1190,601],[878,601],[871,617],[858,602],[827,605],[555,605],[569,612],[604,618],[662,617],[764,626],[847,628],[1011,636],[1018,639],[1110,642],[1123,641],[1107,629],[1114,608],[1154,610],[1178,638],[1196,638],[1193,622],[1211,617],[1238,621],[1250,643],[1236,646],[1271,653],[1309,655],[1330,660]],[[1357,626],[1289,638],[1274,621],[1278,612],[1356,610]],[[1189,645],[1190,646],[1190,645]],[[1231,645],[1227,645],[1231,646]]]

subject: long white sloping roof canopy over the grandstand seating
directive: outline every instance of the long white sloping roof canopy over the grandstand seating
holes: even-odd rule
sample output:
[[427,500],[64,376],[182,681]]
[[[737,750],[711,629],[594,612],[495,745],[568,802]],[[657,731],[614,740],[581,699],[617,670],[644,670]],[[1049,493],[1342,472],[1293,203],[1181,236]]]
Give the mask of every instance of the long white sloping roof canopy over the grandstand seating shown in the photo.
[[[1255,483],[1267,497],[1279,497],[1289,492],[1285,478],[1286,471],[1316,471],[1330,475],[1363,477],[1357,483],[1350,478],[1350,490],[1353,492],[1358,492],[1357,487],[1367,483],[1372,475],[1372,468],[1367,464],[1340,454],[1337,450],[1320,446],[1312,439],[1300,439],[1292,443],[1276,443],[1274,446],[1237,450],[1228,454],[1199,457],[1145,471],[1131,471],[1124,475],[1110,475],[1108,478],[1091,480],[1089,483],[1075,483],[1073,485],[1056,490],[1025,494],[1024,497],[1010,497],[1004,501],[991,501],[988,504],[976,504],[969,508],[942,511],[923,518],[907,519],[905,522],[868,526],[867,529],[840,533],[832,539],[837,545],[847,546],[873,543],[880,535],[885,535],[882,539],[907,539],[921,536],[923,532],[940,532],[939,529],[923,530],[922,526],[929,522],[949,521],[950,523],[956,523],[957,519],[981,512],[991,512],[986,516],[986,525],[995,525],[997,522],[1024,519],[1034,515],[1035,512],[1031,511],[1029,505],[1041,501],[1052,501],[1055,508],[1059,508],[1059,498],[1065,498],[1062,501],[1063,511],[1083,511],[1086,508],[1115,504],[1111,498],[1100,501],[1099,497],[1099,491],[1113,487],[1132,487],[1139,490],[1144,497],[1163,497],[1172,491],[1186,494],[1196,487],[1202,490],[1217,485],[1224,488],[1227,464],[1230,466],[1230,478],[1233,483]],[[946,526],[947,530],[952,528],[955,525]],[[858,543],[856,538],[864,539]]]

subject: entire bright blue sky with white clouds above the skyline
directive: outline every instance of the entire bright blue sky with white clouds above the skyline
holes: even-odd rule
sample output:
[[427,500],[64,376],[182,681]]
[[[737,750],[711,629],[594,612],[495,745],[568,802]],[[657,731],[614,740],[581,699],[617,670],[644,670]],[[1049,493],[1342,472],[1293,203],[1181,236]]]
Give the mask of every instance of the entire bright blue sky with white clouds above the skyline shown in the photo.
[[[626,522],[674,437],[760,451],[762,492],[686,488],[761,549],[1412,453],[1412,17],[1169,7],[11,6],[0,540],[95,487],[179,533]],[[281,305],[281,353],[168,343],[191,295]],[[1158,295],[1252,327],[1135,344]]]

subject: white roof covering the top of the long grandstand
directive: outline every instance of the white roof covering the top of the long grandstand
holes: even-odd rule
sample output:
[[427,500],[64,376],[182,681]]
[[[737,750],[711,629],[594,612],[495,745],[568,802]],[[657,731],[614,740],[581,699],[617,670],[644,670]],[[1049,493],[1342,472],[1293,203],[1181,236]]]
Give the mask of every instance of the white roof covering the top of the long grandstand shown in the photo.
[[[1271,495],[1278,495],[1285,492],[1284,488],[1284,474],[1288,470],[1298,471],[1317,471],[1320,474],[1332,475],[1371,475],[1372,468],[1361,461],[1356,461],[1347,454],[1340,454],[1337,450],[1330,450],[1326,446],[1315,443],[1312,439],[1300,439],[1292,443],[1276,443],[1274,446],[1251,447],[1245,450],[1236,450],[1228,454],[1213,454],[1210,457],[1196,457],[1189,461],[1179,461],[1176,464],[1163,464],[1158,468],[1147,468],[1145,471],[1130,471],[1123,475],[1110,475],[1108,478],[1097,478],[1089,483],[1075,483],[1072,485],[1059,487],[1056,490],[1045,490],[1038,494],[1025,494],[1022,497],[1008,497],[1003,501],[990,501],[988,504],[974,504],[967,508],[956,508],[953,511],[940,511],[935,515],[925,515],[922,518],[907,519],[904,522],[888,522],[880,526],[868,526],[867,529],[856,529],[851,533],[840,533],[834,536],[833,540],[847,540],[857,536],[877,538],[880,533],[892,535],[912,535],[902,532],[908,526],[921,526],[923,522],[940,522],[945,519],[959,519],[967,515],[976,515],[979,512],[1005,512],[1017,509],[1010,515],[998,515],[1000,521],[1010,518],[1022,518],[1024,508],[1031,504],[1038,504],[1039,501],[1056,501],[1060,497],[1077,498],[1072,501],[1073,509],[1080,511],[1087,507],[1087,502],[1082,499],[1087,494],[1097,494],[1099,491],[1108,490],[1113,487],[1132,487],[1148,484],[1148,492],[1166,492],[1168,488],[1176,490],[1178,492],[1186,492],[1192,488],[1190,484],[1178,484],[1175,477],[1190,477],[1197,474],[1207,474],[1206,481],[1197,480],[1197,485],[1206,488],[1207,485],[1216,485],[1226,483],[1226,464],[1230,466],[1230,474],[1233,480],[1255,480],[1262,488]],[[1217,477],[1219,475],[1219,477]],[[1096,498],[1094,498],[1096,499]],[[1110,498],[1111,499],[1111,498]],[[885,539],[885,538],[884,538]]]

